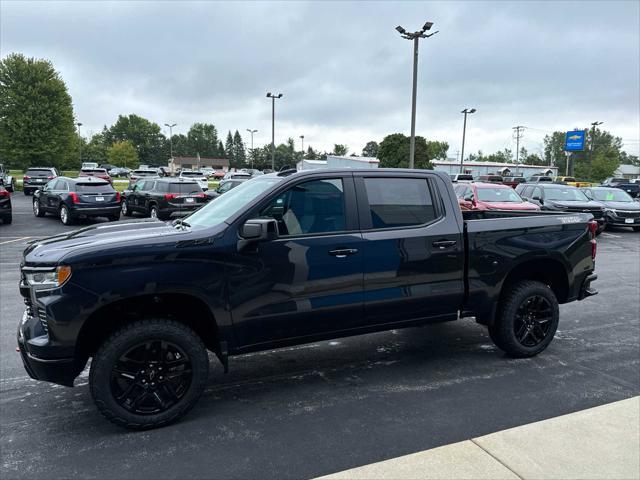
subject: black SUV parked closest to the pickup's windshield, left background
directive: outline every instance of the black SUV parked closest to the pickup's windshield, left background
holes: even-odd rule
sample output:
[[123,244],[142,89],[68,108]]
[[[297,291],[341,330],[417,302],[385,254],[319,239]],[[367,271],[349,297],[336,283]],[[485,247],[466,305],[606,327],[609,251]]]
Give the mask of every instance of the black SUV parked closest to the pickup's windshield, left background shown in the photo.
[[192,213],[209,198],[197,182],[178,178],[148,178],[138,180],[123,192],[122,214],[134,212],[151,218],[167,220]]

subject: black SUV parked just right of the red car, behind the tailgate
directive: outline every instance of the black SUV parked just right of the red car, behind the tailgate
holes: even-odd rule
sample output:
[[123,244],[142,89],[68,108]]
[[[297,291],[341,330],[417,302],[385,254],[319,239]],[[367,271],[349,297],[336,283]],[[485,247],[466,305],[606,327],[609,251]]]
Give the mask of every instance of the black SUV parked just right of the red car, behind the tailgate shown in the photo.
[[590,213],[598,222],[598,233],[604,230],[604,208],[598,202],[589,200],[576,187],[557,183],[521,183],[516,187],[516,192],[525,200],[539,205],[542,210]]

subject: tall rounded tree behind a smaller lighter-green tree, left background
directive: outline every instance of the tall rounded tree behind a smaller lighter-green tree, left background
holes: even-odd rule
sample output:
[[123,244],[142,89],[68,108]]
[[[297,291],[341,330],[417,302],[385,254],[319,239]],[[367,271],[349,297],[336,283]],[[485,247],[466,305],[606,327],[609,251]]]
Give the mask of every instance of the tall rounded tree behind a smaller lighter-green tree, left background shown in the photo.
[[138,152],[140,163],[167,164],[169,145],[157,123],[133,113],[119,115],[116,123],[105,129],[103,134],[107,145],[129,140]]

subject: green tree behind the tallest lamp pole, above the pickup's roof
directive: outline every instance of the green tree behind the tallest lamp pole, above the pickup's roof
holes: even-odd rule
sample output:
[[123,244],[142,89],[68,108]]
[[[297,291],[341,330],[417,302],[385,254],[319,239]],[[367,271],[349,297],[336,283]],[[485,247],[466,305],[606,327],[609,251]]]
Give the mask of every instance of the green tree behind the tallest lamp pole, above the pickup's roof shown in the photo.
[[[402,133],[387,135],[378,149],[380,167],[408,168],[410,138]],[[447,158],[449,144],[446,142],[427,142],[424,137],[416,137],[415,168],[431,169],[431,160]]]

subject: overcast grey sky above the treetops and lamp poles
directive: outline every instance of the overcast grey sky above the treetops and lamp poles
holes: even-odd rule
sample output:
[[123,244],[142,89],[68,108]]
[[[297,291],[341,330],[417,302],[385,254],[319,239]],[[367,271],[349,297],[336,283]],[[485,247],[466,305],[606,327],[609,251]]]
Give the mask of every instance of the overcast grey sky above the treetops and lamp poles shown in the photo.
[[[50,59],[83,134],[136,113],[214,123],[225,136],[258,129],[305,146],[409,134],[411,42],[394,30],[434,22],[421,40],[417,134],[455,157],[465,107],[466,152],[523,145],[553,130],[603,127],[638,154],[640,2],[10,2],[0,0],[0,54]],[[162,127],[165,131],[166,128]],[[168,132],[166,132],[168,134]],[[515,148],[514,148],[515,149]]]

